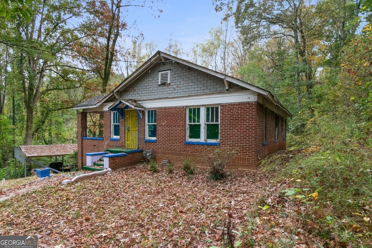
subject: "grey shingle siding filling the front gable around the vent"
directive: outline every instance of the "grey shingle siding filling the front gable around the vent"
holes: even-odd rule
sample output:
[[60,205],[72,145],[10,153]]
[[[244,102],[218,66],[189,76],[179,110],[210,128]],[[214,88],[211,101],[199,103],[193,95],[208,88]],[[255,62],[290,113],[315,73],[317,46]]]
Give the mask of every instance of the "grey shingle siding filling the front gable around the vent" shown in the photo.
[[[226,92],[224,80],[214,75],[190,68],[187,65],[157,63],[120,91],[120,97],[126,99],[158,99],[176,96],[190,96],[198,94]],[[158,85],[161,70],[170,69],[170,85]],[[229,91],[246,90],[241,86],[230,83]]]

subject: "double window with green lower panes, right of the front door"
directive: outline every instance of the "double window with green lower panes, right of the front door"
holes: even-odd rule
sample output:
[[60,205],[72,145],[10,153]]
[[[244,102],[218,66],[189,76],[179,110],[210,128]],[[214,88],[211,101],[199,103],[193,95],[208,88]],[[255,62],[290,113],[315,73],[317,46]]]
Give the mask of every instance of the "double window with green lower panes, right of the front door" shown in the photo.
[[219,107],[188,108],[186,137],[190,141],[217,141],[219,139]]

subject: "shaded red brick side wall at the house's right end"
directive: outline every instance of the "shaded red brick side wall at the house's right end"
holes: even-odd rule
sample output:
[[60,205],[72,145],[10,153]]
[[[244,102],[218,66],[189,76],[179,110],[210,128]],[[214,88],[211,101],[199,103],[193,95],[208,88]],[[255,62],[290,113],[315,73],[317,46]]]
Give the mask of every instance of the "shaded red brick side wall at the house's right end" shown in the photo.
[[272,154],[276,151],[286,148],[286,141],[284,137],[284,126],[283,135],[281,133],[282,125],[285,125],[285,118],[283,117],[283,123],[281,121],[282,116],[279,115],[279,126],[278,126],[278,142],[275,142],[275,113],[268,109],[266,110],[266,142],[267,145],[263,145],[263,109],[264,106],[257,103],[257,162],[266,158],[267,155]]

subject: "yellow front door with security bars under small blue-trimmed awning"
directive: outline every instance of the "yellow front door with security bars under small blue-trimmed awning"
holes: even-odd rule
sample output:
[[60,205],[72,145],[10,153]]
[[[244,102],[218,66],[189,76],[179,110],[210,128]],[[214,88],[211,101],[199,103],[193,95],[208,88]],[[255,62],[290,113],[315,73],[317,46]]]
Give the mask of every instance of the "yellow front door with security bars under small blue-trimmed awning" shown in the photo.
[[138,116],[134,109],[125,110],[126,148],[138,147]]

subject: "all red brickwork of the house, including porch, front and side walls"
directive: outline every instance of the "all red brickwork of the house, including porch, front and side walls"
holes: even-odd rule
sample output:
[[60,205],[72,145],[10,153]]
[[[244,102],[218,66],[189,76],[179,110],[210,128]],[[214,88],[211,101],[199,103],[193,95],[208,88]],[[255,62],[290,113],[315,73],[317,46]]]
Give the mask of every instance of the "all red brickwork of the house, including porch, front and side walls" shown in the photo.
[[[285,149],[285,141],[281,132],[281,116],[279,116],[278,138],[274,142],[275,115],[267,110],[266,141],[262,145],[262,112],[263,105],[257,102],[230,103],[220,105],[220,148],[229,148],[237,151],[237,157],[230,163],[230,168],[255,170],[258,161],[267,154]],[[78,113],[78,165],[86,164],[87,152],[101,152],[108,148],[125,147],[125,119],[120,120],[120,140],[110,141],[111,113],[104,114],[104,139],[81,140],[80,135],[86,136],[86,113]],[[283,122],[284,123],[284,122]],[[85,128],[84,128],[85,125]],[[163,159],[168,159],[176,165],[181,165],[186,157],[193,160],[195,165],[205,165],[201,160],[203,154],[215,149],[211,145],[189,145],[186,141],[186,107],[163,107],[157,109],[157,138],[156,142],[144,142],[145,139],[145,111],[142,111],[142,119],[139,119],[138,148],[144,151],[154,149],[155,160],[158,164]],[[80,144],[80,145],[79,145]],[[118,157],[117,161],[110,159],[111,168],[135,164],[134,161],[142,160],[142,153],[128,154],[126,157]],[[113,162],[113,164],[111,164]]]

